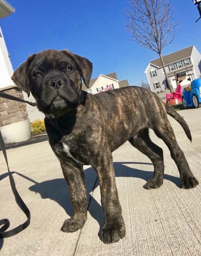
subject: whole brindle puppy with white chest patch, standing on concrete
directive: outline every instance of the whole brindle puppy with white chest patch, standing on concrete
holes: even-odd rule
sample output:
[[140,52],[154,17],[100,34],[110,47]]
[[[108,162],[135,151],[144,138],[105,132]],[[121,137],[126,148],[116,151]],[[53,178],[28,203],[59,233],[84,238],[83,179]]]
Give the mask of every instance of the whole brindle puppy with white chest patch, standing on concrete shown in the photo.
[[148,129],[163,139],[180,173],[182,188],[194,188],[193,176],[179,148],[167,114],[175,118],[191,140],[187,123],[154,93],[130,86],[92,95],[82,91],[82,80],[89,85],[92,63],[69,51],[46,50],[30,56],[12,76],[15,84],[35,97],[45,115],[50,146],[60,160],[69,186],[74,215],[61,230],[81,229],[87,217],[87,196],[83,165],[91,165],[100,182],[105,222],[104,243],[118,242],[125,236],[125,225],[115,184],[111,152],[125,141],[147,155],[154,165],[154,176],[145,188],[163,184],[163,150],[149,138]]

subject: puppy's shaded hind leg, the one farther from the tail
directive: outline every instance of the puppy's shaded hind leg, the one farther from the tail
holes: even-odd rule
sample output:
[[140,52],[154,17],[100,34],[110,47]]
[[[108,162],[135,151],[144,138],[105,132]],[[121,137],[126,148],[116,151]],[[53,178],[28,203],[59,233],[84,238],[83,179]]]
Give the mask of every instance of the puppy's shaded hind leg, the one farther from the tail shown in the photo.
[[129,142],[140,152],[147,155],[154,165],[154,176],[152,180],[148,180],[144,188],[159,188],[163,184],[163,150],[154,144],[149,138],[148,128],[144,128],[139,133],[130,138]]

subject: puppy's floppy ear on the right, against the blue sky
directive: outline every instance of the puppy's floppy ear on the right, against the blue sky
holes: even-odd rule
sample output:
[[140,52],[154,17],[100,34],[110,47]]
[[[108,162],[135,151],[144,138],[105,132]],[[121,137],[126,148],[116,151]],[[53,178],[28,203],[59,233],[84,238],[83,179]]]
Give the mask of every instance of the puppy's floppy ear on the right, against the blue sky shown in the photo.
[[84,84],[87,88],[89,88],[89,81],[92,74],[92,63],[87,60],[86,58],[79,56],[77,54],[74,54],[68,50],[64,50],[65,53],[70,55],[71,59],[77,64],[78,71],[82,77],[82,80],[84,81]]

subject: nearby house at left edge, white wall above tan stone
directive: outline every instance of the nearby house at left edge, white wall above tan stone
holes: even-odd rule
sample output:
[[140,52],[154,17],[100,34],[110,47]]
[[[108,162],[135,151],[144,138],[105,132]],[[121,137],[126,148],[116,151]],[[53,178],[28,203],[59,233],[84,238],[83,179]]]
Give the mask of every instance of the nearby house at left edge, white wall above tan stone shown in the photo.
[[[13,14],[14,11],[9,3],[0,0],[0,19]],[[23,98],[22,91],[11,80],[12,75],[13,68],[0,27],[0,91]],[[28,140],[31,134],[26,104],[0,98],[0,129],[5,143]]]

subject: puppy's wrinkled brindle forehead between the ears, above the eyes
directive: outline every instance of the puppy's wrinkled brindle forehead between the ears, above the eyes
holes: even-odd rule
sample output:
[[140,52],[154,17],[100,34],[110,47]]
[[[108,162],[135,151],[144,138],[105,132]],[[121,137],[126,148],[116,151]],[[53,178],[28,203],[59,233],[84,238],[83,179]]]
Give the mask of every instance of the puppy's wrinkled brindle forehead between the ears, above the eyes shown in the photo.
[[30,63],[29,69],[31,70],[38,66],[44,66],[46,68],[57,68],[61,62],[74,64],[74,61],[71,59],[67,52],[65,53],[64,51],[46,50],[36,54],[34,60]]

